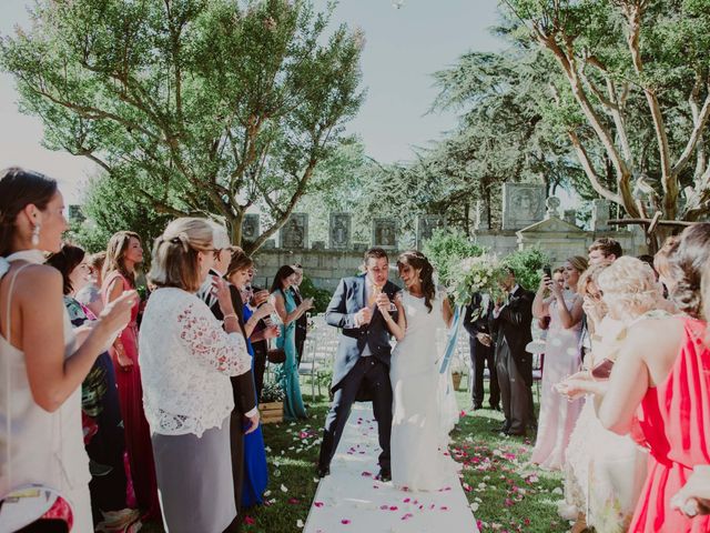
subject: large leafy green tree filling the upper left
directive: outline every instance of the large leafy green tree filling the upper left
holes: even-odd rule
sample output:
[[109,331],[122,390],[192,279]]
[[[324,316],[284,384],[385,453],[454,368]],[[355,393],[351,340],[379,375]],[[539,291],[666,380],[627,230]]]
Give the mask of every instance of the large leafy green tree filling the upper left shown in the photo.
[[[359,108],[362,36],[308,0],[41,0],[1,42],[44,142],[170,214],[286,221]],[[119,201],[120,198],[116,198]]]

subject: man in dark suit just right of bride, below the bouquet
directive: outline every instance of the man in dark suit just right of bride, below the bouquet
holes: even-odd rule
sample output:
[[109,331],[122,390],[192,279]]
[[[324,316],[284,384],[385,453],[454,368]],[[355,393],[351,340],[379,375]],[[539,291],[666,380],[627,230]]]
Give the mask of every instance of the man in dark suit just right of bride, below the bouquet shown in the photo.
[[484,406],[484,369],[488,366],[490,409],[500,409],[500,389],[498,388],[498,374],[495,364],[495,346],[490,335],[490,305],[484,309],[484,298],[480,293],[474,294],[471,302],[466,306],[464,328],[468,332],[468,346],[470,348],[470,363],[473,370],[471,408],[474,410]]

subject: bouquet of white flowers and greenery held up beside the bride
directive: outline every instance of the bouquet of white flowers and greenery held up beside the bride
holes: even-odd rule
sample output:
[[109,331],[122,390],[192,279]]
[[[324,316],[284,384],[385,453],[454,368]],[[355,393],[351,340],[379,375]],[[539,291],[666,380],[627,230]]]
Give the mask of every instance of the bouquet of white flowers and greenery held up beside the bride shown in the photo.
[[465,258],[453,269],[449,293],[456,306],[468,305],[474,294],[480,293],[483,302],[473,316],[473,320],[477,320],[488,311],[490,301],[504,295],[499,282],[505,275],[506,270],[495,254]]

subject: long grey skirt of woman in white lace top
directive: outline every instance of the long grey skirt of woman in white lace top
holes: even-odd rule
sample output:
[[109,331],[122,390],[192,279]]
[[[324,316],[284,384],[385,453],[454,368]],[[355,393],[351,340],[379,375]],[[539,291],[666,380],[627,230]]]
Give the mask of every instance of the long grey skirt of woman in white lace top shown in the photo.
[[169,533],[222,533],[236,516],[230,419],[201,438],[151,435],[163,523]]

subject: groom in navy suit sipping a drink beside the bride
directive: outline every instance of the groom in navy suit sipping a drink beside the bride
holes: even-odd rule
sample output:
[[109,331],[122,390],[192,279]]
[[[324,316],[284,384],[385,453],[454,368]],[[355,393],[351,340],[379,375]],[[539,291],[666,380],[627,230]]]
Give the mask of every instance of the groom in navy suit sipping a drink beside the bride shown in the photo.
[[344,278],[325,311],[325,321],[342,329],[333,363],[333,403],[325,419],[318,476],[331,473],[331,460],[356,400],[372,400],[379,435],[379,479],[389,481],[392,385],[389,330],[376,301],[394,300],[399,290],[387,281],[389,259],[381,248],[365,252],[365,274]]

